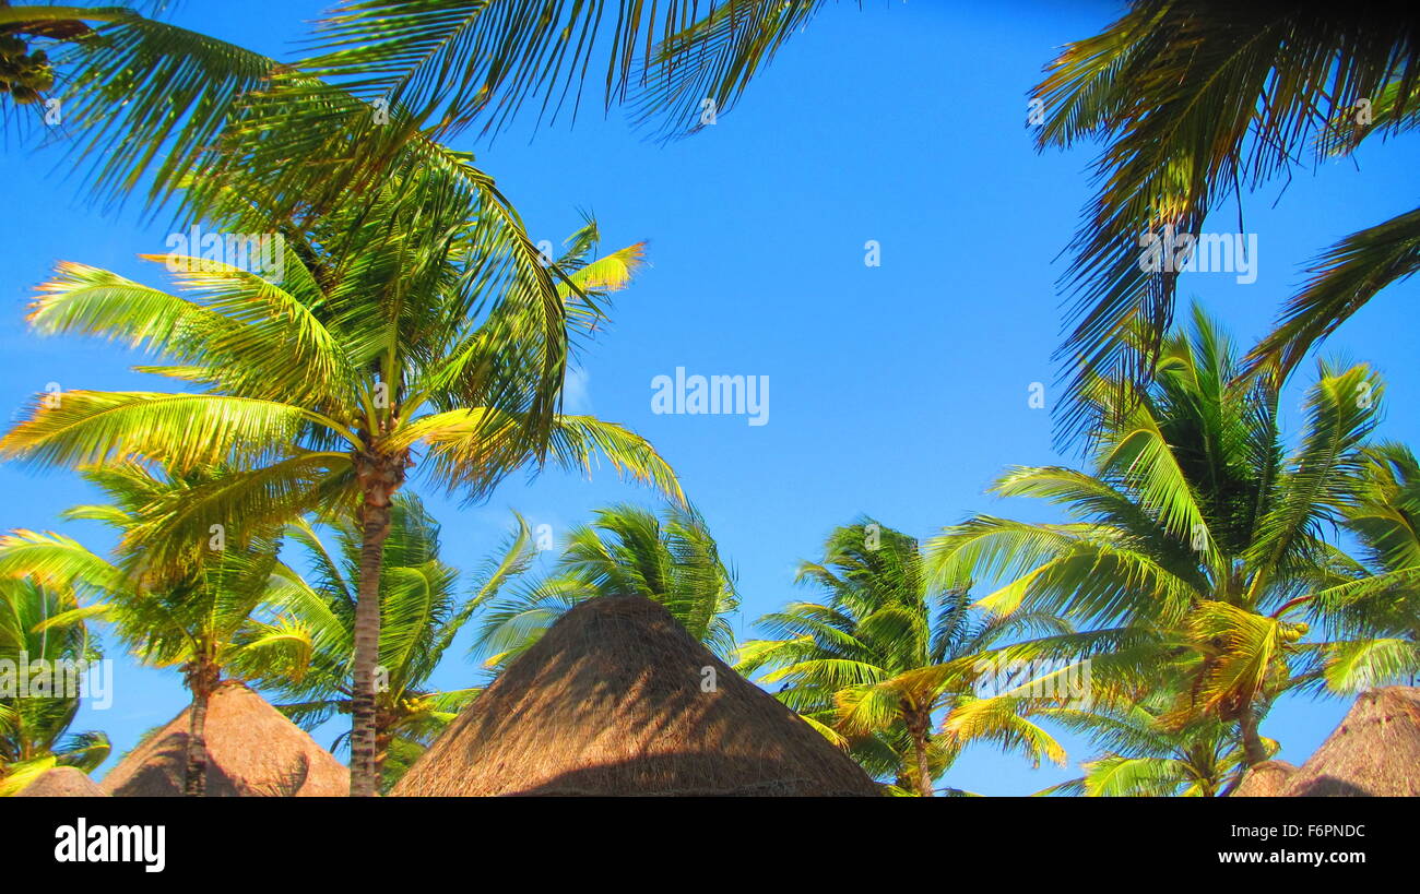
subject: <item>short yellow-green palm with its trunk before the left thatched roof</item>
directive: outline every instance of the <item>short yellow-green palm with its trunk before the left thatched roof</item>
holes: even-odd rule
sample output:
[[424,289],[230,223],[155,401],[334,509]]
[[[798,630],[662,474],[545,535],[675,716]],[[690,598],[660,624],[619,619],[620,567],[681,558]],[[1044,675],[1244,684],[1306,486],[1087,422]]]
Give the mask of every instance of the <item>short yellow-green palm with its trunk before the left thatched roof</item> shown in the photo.
[[[151,521],[155,507],[224,480],[202,470],[160,477],[136,464],[85,471],[109,502],[68,509],[70,519],[99,521],[128,535]],[[216,536],[216,535],[214,535]],[[268,663],[290,673],[304,668],[311,643],[305,631],[263,612],[277,566],[277,545],[254,538],[243,548],[220,539],[182,573],[153,566],[145,549],[121,546],[115,562],[54,532],[14,531],[0,538],[0,570],[28,573],[99,593],[91,612],[112,620],[119,639],[145,663],[178,667],[192,695],[183,795],[200,798],[207,783],[207,704],[224,677],[253,678]]]

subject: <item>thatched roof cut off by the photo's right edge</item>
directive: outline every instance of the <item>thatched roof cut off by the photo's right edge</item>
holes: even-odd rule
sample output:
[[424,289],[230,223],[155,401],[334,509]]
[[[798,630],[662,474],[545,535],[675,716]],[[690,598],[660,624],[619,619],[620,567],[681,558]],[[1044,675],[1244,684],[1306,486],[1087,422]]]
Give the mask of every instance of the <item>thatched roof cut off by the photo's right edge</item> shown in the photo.
[[1362,692],[1284,795],[1420,795],[1420,688]]

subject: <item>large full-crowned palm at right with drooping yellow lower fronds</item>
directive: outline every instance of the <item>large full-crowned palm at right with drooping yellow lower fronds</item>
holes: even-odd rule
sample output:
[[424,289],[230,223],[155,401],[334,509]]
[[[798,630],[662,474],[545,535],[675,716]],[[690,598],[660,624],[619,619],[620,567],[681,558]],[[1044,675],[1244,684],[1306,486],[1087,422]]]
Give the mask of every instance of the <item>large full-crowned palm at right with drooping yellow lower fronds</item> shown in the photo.
[[1012,468],[993,487],[1074,521],[977,515],[929,552],[943,583],[1003,580],[980,602],[990,612],[1088,627],[1017,644],[1014,657],[1088,658],[1096,680],[1135,688],[1177,675],[1164,721],[1238,724],[1252,765],[1268,755],[1258,725],[1271,702],[1319,680],[1326,646],[1302,637],[1329,612],[1309,596],[1345,580],[1349,561],[1323,529],[1360,488],[1382,386],[1365,366],[1322,366],[1288,456],[1277,379],[1244,383],[1237,369],[1231,343],[1196,311],[1140,399],[1113,382],[1092,389],[1100,437],[1089,471]]

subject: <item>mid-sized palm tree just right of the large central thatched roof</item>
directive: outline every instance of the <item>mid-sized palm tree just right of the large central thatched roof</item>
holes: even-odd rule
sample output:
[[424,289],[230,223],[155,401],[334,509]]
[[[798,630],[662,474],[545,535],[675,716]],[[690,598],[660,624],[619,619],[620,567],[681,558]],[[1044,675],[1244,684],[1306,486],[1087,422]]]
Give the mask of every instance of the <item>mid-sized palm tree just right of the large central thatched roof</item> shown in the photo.
[[[1059,631],[1044,616],[983,619],[964,590],[933,592],[917,542],[870,519],[836,528],[821,562],[799,582],[825,603],[795,602],[757,623],[777,639],[751,640],[738,670],[782,684],[778,698],[893,789],[930,796],[934,780],[973,739],[1064,763],[1065,752],[1025,711],[990,711],[977,678],[985,651],[1012,634]],[[968,728],[953,712],[977,705]],[[937,717],[946,718],[933,732]]]

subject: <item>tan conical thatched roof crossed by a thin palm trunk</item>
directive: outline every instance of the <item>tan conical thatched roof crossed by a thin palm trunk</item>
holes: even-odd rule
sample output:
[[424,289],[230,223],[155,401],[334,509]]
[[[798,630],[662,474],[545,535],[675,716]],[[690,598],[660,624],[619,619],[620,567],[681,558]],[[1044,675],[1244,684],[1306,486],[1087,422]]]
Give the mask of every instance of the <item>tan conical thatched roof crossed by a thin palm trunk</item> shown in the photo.
[[[116,796],[180,796],[187,765],[187,711],[131,751],[104,778]],[[207,704],[209,796],[344,796],[349,772],[304,729],[240,683]]]

